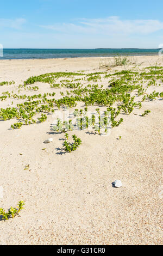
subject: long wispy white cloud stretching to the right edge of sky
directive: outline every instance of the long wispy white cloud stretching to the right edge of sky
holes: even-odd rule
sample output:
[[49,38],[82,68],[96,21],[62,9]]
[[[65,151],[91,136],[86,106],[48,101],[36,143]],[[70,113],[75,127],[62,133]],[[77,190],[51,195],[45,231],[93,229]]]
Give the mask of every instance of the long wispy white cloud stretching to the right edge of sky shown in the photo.
[[106,19],[82,19],[77,23],[55,23],[40,27],[62,33],[150,34],[163,29],[163,22],[159,20],[121,20],[120,17],[110,16]]

